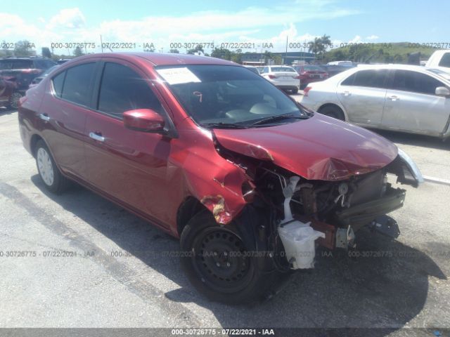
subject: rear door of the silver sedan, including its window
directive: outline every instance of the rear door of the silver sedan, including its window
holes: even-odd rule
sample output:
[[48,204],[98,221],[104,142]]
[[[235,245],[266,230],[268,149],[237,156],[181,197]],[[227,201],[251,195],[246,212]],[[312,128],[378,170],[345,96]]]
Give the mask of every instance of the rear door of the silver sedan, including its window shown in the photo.
[[383,117],[388,70],[359,70],[340,82],[340,103],[351,122],[378,126]]

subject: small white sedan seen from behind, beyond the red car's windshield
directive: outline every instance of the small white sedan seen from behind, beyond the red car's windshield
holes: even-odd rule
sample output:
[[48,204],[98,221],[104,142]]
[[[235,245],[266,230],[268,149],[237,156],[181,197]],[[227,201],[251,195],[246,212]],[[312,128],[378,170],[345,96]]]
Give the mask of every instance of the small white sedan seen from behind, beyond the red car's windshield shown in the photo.
[[300,75],[293,67],[268,65],[262,70],[261,76],[283,90],[298,93],[300,89]]

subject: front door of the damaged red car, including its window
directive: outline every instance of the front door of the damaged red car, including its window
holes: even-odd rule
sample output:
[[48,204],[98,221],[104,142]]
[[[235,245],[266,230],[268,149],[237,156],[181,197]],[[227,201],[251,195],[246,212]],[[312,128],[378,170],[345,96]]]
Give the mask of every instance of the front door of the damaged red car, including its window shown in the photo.
[[129,62],[103,60],[96,112],[85,136],[89,183],[156,223],[169,222],[170,138],[125,128],[125,111],[150,108],[169,118],[148,75]]

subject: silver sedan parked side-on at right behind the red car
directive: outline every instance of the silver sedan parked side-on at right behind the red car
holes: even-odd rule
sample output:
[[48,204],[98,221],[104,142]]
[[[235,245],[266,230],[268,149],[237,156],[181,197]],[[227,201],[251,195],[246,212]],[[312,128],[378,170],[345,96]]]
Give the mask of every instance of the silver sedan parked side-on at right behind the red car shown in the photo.
[[370,128],[450,136],[450,74],[418,65],[362,65],[304,89],[302,105]]

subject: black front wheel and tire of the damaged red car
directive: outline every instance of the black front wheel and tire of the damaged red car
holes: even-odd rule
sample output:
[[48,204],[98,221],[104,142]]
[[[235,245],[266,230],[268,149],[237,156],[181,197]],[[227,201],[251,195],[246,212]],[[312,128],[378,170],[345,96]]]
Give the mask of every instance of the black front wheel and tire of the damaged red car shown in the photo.
[[234,221],[219,225],[200,211],[181,233],[181,267],[195,289],[210,300],[228,304],[271,298],[290,273],[264,270],[264,257],[250,254]]

